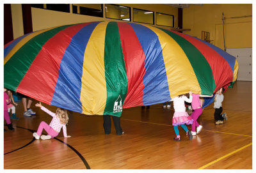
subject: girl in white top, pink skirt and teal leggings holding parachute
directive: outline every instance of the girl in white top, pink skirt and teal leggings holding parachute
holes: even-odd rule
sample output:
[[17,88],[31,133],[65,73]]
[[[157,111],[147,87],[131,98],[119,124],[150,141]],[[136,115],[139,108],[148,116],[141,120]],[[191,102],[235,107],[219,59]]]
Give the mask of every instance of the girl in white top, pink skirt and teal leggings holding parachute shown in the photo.
[[[192,102],[192,92],[189,91],[189,98],[185,94],[181,94],[172,99],[173,107],[174,107],[174,114],[172,118],[172,124],[174,131],[177,137],[174,138],[176,141],[180,141],[179,129],[178,126],[180,125],[186,132],[189,137],[189,140],[192,140],[192,134],[189,132],[186,124],[192,124],[193,119],[188,115],[186,112],[185,101],[191,103]],[[185,124],[186,123],[186,124]]]

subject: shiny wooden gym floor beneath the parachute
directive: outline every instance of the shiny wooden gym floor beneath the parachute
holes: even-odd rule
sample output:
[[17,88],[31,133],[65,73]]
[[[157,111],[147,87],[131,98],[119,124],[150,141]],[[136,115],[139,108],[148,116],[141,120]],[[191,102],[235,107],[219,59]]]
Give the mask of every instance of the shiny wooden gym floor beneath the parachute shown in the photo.
[[252,82],[237,81],[224,96],[228,121],[215,125],[209,105],[199,119],[202,132],[188,140],[179,128],[180,142],[173,141],[173,107],[161,104],[123,110],[122,136],[114,127],[104,135],[102,116],[70,112],[71,138],[64,139],[61,131],[56,139],[35,140],[33,131],[51,116],[35,101],[36,116],[24,117],[19,102],[15,132],[4,132],[4,169],[252,169]]

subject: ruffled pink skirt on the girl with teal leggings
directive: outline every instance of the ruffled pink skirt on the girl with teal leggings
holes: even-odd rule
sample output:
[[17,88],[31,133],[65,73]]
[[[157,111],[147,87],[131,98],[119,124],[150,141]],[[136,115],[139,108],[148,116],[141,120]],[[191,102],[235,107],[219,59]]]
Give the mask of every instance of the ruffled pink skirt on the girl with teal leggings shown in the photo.
[[172,118],[173,126],[179,126],[180,124],[193,124],[193,119],[187,112],[174,112]]

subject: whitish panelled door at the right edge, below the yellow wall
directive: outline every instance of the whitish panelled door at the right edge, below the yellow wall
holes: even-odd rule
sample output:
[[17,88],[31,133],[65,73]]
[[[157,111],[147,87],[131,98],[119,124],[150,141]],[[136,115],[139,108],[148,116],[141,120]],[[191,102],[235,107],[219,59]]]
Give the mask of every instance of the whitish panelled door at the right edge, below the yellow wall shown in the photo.
[[252,48],[232,48],[227,53],[236,57],[239,64],[237,80],[252,81]]

